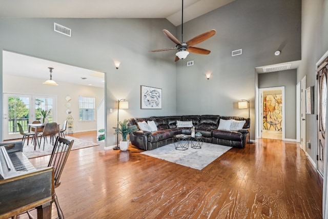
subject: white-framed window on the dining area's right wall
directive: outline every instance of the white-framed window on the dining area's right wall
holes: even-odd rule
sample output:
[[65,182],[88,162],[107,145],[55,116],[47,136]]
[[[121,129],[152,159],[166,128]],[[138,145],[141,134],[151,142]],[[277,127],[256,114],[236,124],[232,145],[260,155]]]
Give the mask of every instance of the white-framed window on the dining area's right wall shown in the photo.
[[94,97],[79,96],[79,121],[94,121]]

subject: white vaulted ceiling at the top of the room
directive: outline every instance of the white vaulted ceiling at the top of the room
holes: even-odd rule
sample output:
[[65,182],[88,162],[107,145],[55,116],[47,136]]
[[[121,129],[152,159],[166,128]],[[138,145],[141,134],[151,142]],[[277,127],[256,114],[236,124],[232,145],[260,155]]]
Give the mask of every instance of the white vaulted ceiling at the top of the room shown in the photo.
[[[183,22],[235,0],[185,0]],[[167,18],[181,24],[179,0],[0,0],[0,17]]]

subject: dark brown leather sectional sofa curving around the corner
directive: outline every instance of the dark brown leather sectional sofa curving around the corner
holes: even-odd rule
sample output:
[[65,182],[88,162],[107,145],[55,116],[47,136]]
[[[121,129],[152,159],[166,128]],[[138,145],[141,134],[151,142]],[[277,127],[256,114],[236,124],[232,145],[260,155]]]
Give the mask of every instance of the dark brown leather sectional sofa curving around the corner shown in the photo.
[[[245,121],[242,129],[237,131],[219,130],[221,120]],[[130,134],[132,145],[142,150],[153,150],[175,141],[176,134],[191,134],[190,127],[177,128],[177,121],[192,121],[195,132],[202,134],[203,142],[236,148],[245,147],[249,134],[250,118],[239,116],[219,115],[182,115],[182,116],[151,116],[146,118],[130,118],[129,125],[137,125],[138,122],[154,121],[158,131],[134,131]]]

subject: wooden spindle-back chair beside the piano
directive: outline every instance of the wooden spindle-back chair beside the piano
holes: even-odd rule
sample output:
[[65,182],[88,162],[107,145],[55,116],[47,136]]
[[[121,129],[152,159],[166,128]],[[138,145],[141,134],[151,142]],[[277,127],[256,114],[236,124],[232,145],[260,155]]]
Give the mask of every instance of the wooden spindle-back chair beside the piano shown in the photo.
[[[56,141],[50,156],[48,167],[54,167],[54,187],[55,189],[60,186],[60,175],[64,170],[68,155],[72,149],[74,140],[67,140],[66,138],[57,136]],[[56,195],[56,190],[54,192],[52,203],[55,203],[58,217],[64,219],[64,213],[61,210]],[[34,218],[29,211],[27,211],[29,218]]]

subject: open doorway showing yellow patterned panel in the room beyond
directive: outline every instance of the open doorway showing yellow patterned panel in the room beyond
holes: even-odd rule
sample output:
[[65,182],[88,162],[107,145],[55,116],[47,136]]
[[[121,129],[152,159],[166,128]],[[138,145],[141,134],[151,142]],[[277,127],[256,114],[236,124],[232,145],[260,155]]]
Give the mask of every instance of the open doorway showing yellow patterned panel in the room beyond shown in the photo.
[[259,89],[259,137],[284,140],[284,87]]

